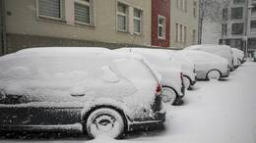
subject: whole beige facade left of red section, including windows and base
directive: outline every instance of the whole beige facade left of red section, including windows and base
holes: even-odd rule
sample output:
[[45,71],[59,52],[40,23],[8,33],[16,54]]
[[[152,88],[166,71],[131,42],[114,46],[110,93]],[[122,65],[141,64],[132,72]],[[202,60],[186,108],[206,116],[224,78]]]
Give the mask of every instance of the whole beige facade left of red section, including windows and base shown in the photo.
[[148,0],[5,1],[7,53],[44,46],[151,45]]

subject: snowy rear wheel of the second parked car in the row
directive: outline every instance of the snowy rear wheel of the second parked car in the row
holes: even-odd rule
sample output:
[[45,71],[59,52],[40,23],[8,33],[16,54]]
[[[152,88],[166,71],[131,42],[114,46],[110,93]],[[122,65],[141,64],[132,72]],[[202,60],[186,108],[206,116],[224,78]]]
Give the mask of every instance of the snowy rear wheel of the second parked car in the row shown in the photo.
[[176,92],[169,87],[162,87],[161,99],[164,103],[170,103],[171,105],[176,100]]

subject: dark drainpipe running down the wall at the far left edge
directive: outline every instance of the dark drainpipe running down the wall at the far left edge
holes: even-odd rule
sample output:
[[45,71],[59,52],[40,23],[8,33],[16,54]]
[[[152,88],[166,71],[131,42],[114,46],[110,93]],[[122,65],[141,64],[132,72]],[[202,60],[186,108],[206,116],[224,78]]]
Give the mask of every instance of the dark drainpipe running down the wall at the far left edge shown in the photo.
[[1,0],[1,19],[2,19],[2,39],[1,39],[1,47],[2,47],[2,53],[3,55],[6,54],[6,3],[5,0]]

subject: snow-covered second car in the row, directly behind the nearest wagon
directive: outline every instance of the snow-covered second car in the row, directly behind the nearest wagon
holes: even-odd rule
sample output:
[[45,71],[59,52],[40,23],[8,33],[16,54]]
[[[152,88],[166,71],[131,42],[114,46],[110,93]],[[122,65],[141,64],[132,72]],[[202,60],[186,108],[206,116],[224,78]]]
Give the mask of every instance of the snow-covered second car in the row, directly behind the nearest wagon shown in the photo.
[[182,98],[185,95],[183,73],[181,66],[171,60],[169,54],[163,50],[148,48],[120,48],[115,51],[142,55],[160,73],[163,102],[172,105],[183,104]]

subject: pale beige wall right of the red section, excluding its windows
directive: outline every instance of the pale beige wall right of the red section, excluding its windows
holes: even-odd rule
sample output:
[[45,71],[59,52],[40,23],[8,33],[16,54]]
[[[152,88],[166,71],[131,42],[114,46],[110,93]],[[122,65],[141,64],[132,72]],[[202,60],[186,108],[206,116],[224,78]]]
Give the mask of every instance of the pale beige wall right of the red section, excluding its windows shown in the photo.
[[[177,2],[180,0],[171,0],[170,2],[170,46],[177,48],[184,48],[198,41],[198,14],[199,14],[199,0],[186,0],[187,11],[178,8]],[[196,17],[193,15],[193,4],[196,2]],[[183,24],[187,27],[186,42],[176,40],[176,24]],[[196,31],[195,40],[193,40],[193,30]]]

